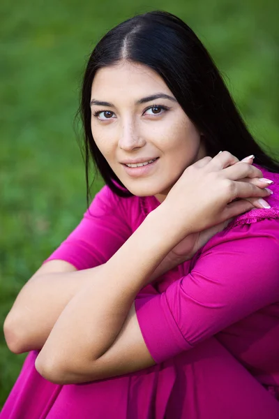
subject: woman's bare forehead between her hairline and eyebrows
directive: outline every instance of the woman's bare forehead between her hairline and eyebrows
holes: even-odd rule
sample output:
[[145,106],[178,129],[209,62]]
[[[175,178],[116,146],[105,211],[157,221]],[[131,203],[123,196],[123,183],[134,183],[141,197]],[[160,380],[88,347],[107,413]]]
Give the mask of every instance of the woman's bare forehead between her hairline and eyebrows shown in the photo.
[[107,99],[108,95],[110,98],[127,95],[140,98],[158,91],[172,95],[156,71],[143,64],[125,61],[97,71],[91,87],[91,97],[99,100]]

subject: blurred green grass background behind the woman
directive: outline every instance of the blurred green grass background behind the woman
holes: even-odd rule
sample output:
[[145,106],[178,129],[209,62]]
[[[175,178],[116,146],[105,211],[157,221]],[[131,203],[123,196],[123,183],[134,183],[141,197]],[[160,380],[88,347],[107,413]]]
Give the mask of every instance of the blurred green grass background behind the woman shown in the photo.
[[[278,0],[42,1],[0,3],[0,316],[86,210],[84,163],[73,127],[93,46],[136,13],[185,20],[216,61],[241,113],[278,153]],[[92,195],[102,186],[97,179]],[[1,332],[0,406],[26,354]]]

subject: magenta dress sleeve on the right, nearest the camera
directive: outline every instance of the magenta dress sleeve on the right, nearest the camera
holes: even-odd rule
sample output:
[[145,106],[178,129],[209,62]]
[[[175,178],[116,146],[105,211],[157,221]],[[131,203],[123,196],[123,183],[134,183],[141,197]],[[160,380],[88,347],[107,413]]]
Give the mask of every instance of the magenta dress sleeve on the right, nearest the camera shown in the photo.
[[163,362],[279,300],[279,219],[236,226],[202,248],[191,272],[135,300],[152,358]]

